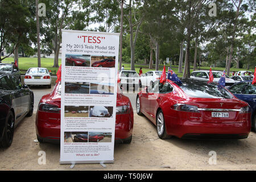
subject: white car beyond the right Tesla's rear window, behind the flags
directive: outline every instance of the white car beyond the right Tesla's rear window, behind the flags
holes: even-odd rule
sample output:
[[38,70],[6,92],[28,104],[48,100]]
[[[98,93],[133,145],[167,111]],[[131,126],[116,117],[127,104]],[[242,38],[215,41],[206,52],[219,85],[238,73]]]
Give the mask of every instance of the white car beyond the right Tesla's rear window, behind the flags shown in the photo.
[[[197,80],[205,80],[209,81],[209,72],[210,71],[194,71],[191,73],[191,78],[197,79]],[[222,76],[223,72],[220,71],[212,71],[213,74],[213,82],[218,82]],[[231,86],[235,83],[235,81],[228,76],[225,78],[225,85]]]

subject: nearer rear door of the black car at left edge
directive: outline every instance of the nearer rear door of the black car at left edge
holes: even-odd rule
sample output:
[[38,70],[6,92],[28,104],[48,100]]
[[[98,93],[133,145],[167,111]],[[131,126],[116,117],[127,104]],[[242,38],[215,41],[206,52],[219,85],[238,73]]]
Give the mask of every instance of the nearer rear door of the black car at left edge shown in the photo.
[[10,80],[9,76],[4,76],[1,78],[1,84],[2,84],[2,89],[6,90],[7,92],[10,93],[11,97],[11,105],[13,106],[14,109],[14,114],[15,114],[15,121],[22,115],[22,110],[21,110],[21,94],[19,90],[15,90],[15,86],[13,82]]

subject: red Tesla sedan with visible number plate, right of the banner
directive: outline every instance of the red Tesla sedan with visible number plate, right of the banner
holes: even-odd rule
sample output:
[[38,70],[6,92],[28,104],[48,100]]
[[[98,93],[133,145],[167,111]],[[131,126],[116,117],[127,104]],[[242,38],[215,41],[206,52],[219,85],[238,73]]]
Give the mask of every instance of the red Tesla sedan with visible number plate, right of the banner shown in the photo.
[[137,95],[137,113],[156,125],[159,138],[247,138],[250,107],[217,84],[155,81]]

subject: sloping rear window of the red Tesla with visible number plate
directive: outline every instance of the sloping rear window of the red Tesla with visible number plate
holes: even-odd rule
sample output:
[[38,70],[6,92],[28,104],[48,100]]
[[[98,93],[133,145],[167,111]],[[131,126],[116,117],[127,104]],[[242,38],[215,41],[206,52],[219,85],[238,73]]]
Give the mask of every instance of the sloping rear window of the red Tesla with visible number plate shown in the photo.
[[233,98],[232,94],[228,92],[225,88],[218,87],[217,84],[204,81],[183,81],[183,84],[180,85],[180,88],[187,94],[189,97],[196,98]]

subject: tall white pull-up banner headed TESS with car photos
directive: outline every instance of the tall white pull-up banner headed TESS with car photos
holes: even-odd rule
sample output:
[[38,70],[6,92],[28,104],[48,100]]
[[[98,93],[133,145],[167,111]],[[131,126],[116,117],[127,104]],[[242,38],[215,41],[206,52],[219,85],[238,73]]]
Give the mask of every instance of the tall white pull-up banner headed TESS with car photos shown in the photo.
[[63,30],[60,163],[113,163],[119,34]]

